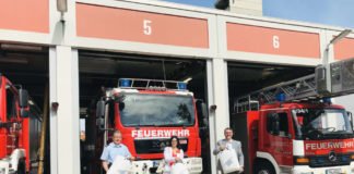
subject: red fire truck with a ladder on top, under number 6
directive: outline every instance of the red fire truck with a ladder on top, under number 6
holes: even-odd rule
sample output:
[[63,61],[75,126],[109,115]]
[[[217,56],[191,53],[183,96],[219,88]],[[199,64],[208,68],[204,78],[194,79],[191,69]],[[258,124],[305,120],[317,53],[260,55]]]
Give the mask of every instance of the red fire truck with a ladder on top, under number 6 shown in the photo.
[[246,173],[354,173],[352,114],[328,98],[353,91],[353,62],[331,64],[330,92],[318,92],[326,73],[319,71],[235,100],[232,127]]

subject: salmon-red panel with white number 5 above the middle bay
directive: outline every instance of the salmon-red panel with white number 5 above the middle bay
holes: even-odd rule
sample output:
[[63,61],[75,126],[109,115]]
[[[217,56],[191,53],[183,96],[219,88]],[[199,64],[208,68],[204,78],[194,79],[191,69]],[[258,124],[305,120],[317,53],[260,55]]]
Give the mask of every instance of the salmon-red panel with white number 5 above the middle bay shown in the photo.
[[76,27],[80,37],[209,48],[208,18],[76,3]]

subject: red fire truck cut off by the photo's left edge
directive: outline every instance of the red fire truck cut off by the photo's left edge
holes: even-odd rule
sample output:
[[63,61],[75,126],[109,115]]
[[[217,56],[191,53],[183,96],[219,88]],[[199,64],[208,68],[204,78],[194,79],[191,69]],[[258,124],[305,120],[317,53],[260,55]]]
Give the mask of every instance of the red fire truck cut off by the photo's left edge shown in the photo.
[[42,115],[17,87],[0,74],[0,174],[24,174],[37,161]]

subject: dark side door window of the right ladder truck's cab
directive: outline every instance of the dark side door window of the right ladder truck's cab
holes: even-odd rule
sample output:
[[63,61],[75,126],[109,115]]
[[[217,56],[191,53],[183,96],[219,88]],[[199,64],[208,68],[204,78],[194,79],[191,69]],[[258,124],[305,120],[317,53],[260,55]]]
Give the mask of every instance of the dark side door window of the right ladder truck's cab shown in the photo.
[[267,114],[267,132],[276,136],[287,136],[287,114],[285,112]]

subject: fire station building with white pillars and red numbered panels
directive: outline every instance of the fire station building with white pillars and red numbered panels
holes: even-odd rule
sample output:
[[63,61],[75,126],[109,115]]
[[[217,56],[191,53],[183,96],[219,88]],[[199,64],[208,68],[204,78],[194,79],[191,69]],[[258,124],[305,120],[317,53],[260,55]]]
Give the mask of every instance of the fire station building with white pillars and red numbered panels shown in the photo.
[[0,72],[39,104],[48,84],[51,174],[80,173],[80,120],[118,78],[188,82],[208,103],[212,153],[237,96],[354,57],[353,32],[331,42],[341,27],[163,1],[67,3],[0,1]]

